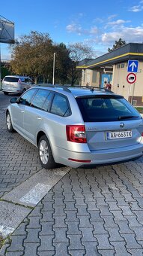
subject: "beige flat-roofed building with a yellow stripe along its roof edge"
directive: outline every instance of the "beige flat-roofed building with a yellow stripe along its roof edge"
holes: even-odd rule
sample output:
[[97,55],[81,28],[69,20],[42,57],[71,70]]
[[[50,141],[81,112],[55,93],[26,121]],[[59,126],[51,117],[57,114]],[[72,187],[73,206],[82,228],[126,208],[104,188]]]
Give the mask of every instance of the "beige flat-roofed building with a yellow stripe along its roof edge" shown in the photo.
[[[128,72],[128,60],[136,60],[139,63],[130,66]],[[143,44],[126,44],[112,52],[99,56],[96,59],[79,62],[77,69],[82,69],[82,85],[103,87],[104,82],[112,84],[112,91],[121,94],[133,105],[143,105]],[[136,81],[130,84],[127,75],[133,73]]]

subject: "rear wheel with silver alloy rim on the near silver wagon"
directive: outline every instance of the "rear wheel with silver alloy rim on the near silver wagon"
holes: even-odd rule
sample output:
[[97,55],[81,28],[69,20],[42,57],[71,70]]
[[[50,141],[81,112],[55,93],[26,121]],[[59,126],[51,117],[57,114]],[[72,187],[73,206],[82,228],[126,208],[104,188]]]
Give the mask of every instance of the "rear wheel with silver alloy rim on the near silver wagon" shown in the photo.
[[56,167],[57,164],[52,156],[52,150],[46,135],[40,137],[38,142],[38,154],[43,168],[52,169]]

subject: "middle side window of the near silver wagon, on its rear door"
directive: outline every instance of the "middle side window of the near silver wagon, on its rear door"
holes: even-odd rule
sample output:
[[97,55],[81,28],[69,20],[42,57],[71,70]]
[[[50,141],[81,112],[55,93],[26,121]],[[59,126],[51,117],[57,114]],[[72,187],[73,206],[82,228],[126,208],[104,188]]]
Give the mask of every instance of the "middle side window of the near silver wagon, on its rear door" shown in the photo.
[[49,90],[38,90],[31,101],[31,106],[34,108],[43,108],[43,104],[46,101],[46,98],[49,95],[49,93]]

